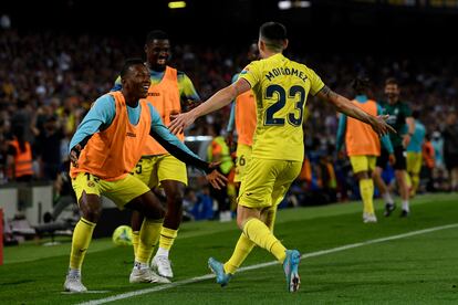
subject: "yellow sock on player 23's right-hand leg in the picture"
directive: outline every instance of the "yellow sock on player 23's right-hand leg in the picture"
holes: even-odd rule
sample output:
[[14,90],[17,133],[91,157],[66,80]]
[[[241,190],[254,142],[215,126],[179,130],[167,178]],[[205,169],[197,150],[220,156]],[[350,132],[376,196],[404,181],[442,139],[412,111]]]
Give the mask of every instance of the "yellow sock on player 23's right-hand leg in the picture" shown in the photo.
[[244,223],[243,233],[257,245],[272,253],[280,263],[283,263],[287,257],[287,249],[272,234],[266,223],[252,218]]

